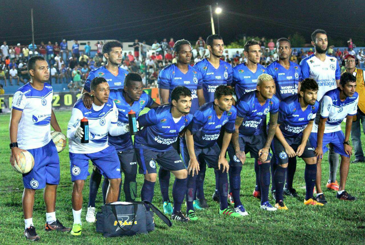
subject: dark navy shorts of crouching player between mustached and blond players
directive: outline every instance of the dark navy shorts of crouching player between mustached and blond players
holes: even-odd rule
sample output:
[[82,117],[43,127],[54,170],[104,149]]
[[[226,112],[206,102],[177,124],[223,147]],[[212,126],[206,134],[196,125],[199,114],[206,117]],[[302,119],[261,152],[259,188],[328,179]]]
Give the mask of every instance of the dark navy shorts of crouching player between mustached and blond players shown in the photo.
[[[194,151],[196,159],[198,160],[200,165],[207,164],[208,167],[218,169],[218,158],[220,154],[220,148],[217,143],[207,148],[194,147]],[[183,157],[185,166],[188,167],[190,157],[189,157],[188,147],[185,145],[185,143],[183,144],[181,142],[180,152],[181,156]]]

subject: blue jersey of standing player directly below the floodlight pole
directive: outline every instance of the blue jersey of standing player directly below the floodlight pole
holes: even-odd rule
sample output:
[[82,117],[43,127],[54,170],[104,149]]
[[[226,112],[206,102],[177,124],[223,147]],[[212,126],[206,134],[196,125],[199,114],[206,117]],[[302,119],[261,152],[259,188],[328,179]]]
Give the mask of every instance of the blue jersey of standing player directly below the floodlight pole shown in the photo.
[[214,92],[219,85],[231,86],[232,66],[224,60],[219,60],[218,69],[205,58],[194,65],[203,76],[203,94],[205,102],[214,101]]

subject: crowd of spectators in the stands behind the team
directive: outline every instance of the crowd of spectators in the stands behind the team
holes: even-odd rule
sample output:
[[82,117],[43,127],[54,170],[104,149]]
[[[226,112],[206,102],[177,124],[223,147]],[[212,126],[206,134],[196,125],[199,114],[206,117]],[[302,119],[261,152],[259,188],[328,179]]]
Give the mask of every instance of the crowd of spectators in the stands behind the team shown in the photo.
[[[141,74],[143,82],[147,83],[147,87],[155,87],[157,86],[159,72],[165,66],[175,62],[174,44],[173,38],[170,38],[169,42],[166,38],[162,39],[161,42],[154,40],[151,46],[146,45],[145,41],[139,42],[138,39],[135,39],[132,45],[134,52],[123,52],[121,67],[129,72],[138,72]],[[339,60],[340,66],[342,58],[346,54],[356,55],[360,67],[364,67],[364,50],[360,49],[356,54],[353,50],[356,46],[351,39],[347,41],[347,44],[348,48],[343,50],[340,50],[340,48],[334,50],[334,47],[330,46],[327,53],[335,56]],[[202,37],[199,37],[192,45],[196,51],[193,52],[191,65],[209,55]],[[7,42],[4,41],[0,47],[0,81],[1,83],[4,81],[5,87],[26,83],[30,79],[26,66],[28,58],[32,55],[41,55],[49,62],[50,75],[55,83],[66,83],[70,90],[79,91],[82,89],[89,72],[103,66],[106,62],[102,55],[103,42],[97,42],[95,46],[96,54],[91,55],[92,47],[90,42],[84,46],[83,50],[80,50],[77,40],[74,40],[72,47],[68,47],[66,40],[62,40],[60,44],[48,42],[46,45],[41,42],[39,45],[31,43],[25,46],[20,45],[20,43],[16,46],[8,46]],[[260,47],[262,53],[260,63],[263,66],[267,66],[277,59],[273,39],[269,39],[267,42],[262,37]],[[299,64],[300,60],[313,54],[313,52],[313,48],[306,49],[306,51],[304,48],[293,48],[290,59],[292,62]],[[221,59],[232,64],[233,67],[246,61],[242,49],[234,54],[225,50]],[[341,71],[343,70],[345,70],[345,67],[341,66]]]

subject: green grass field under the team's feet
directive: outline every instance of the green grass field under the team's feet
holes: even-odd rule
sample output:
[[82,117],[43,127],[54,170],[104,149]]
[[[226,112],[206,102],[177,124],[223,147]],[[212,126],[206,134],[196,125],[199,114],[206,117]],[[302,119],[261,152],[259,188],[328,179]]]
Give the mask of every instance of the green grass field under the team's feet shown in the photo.
[[[66,134],[70,111],[56,111],[62,132]],[[22,213],[22,176],[11,169],[9,163],[9,114],[0,116],[0,243],[28,243],[23,237],[24,220]],[[365,137],[362,135],[365,143]],[[60,154],[61,181],[57,190],[56,215],[66,226],[72,226],[71,191],[68,147]],[[354,157],[351,157],[353,160]],[[322,163],[322,185],[328,179],[327,154]],[[84,188],[84,205],[82,210],[83,231],[81,237],[66,233],[46,233],[45,205],[43,192],[36,192],[33,221],[41,242],[45,244],[364,244],[365,243],[365,163],[351,164],[346,189],[358,200],[355,202],[340,201],[335,198],[334,191],[325,190],[328,204],[323,207],[304,206],[303,201],[287,197],[285,203],[288,211],[265,212],[260,209],[260,201],[252,197],[255,185],[253,159],[247,158],[243,166],[241,178],[241,200],[249,212],[242,218],[222,218],[218,214],[219,204],[213,202],[215,178],[212,169],[208,169],[205,178],[205,194],[210,208],[197,211],[197,222],[181,224],[173,222],[168,228],[157,217],[156,229],[149,234],[133,237],[104,238],[95,232],[95,224],[85,221],[88,203],[88,181]],[[90,165],[91,166],[91,165]],[[91,167],[89,168],[91,172]],[[339,171],[339,170],[338,170]],[[339,173],[338,181],[339,181]],[[170,198],[173,178],[171,178]],[[143,176],[137,176],[138,193],[140,194]],[[299,159],[294,179],[294,187],[304,197],[304,162]],[[271,198],[271,197],[269,197]],[[139,200],[139,198],[137,198]],[[162,210],[160,186],[155,185],[153,203]],[[274,205],[271,199],[270,203]],[[96,207],[102,205],[101,188],[96,200]],[[183,211],[185,206],[183,205]]]

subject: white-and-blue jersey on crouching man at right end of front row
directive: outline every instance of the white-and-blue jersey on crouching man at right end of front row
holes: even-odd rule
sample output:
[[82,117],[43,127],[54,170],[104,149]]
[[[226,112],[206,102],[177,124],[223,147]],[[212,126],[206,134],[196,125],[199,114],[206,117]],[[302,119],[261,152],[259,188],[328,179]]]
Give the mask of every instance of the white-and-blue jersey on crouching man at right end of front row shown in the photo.
[[[320,101],[320,117],[327,118],[324,133],[341,131],[341,123],[346,116],[354,116],[357,113],[357,103],[359,95],[355,92],[354,96],[347,97],[344,101],[340,100],[341,90],[335,88],[324,94]],[[312,132],[317,133],[318,125],[313,124]]]

